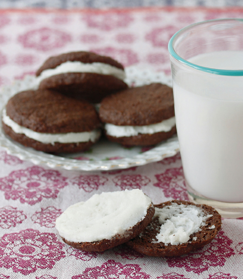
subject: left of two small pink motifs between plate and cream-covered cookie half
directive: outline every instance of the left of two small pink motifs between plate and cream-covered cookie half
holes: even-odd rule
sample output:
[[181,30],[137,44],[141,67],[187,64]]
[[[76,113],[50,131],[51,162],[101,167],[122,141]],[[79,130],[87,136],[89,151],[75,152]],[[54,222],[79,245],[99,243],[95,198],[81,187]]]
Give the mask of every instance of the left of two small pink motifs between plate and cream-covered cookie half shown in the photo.
[[71,179],[73,185],[78,185],[79,189],[84,189],[85,192],[98,190],[107,181],[108,178],[99,175],[79,175]]

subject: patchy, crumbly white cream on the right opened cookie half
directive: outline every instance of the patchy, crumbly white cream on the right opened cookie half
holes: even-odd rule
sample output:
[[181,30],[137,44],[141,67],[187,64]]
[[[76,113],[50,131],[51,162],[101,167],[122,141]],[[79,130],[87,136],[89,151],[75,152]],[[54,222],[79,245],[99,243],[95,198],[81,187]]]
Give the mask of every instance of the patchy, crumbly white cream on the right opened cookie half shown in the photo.
[[205,215],[201,208],[194,205],[172,203],[163,208],[155,207],[153,218],[159,217],[161,227],[156,235],[157,241],[154,242],[163,242],[165,245],[186,243],[190,235],[200,231],[200,227],[204,226],[205,221],[211,216]]

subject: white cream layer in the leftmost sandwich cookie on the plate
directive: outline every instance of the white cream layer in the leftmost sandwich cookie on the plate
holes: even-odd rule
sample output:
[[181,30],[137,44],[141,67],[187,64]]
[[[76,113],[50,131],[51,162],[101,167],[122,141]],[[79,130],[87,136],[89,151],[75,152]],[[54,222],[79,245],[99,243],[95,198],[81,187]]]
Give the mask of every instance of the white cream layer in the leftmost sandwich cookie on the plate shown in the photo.
[[26,127],[20,126],[14,122],[7,114],[6,109],[3,109],[2,112],[2,121],[7,126],[9,126],[16,134],[24,134],[30,139],[37,140],[41,143],[84,143],[88,141],[95,142],[101,132],[99,129],[95,129],[90,132],[80,132],[80,133],[60,133],[60,134],[51,134],[51,133],[39,133],[35,132]]

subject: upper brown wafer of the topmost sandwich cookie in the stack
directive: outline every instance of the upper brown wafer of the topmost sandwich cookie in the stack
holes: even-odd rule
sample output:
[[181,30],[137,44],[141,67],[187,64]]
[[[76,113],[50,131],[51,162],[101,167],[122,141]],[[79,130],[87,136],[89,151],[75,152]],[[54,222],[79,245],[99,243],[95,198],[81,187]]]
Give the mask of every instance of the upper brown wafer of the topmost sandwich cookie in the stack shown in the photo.
[[122,70],[124,69],[123,65],[121,65],[119,62],[112,59],[111,57],[98,55],[93,52],[77,51],[77,52],[63,53],[48,58],[44,62],[44,64],[37,70],[36,76],[39,76],[43,70],[54,69],[56,68],[56,66],[67,61],[80,61],[83,63],[101,62],[101,63],[109,64],[111,66],[115,66],[116,68]]

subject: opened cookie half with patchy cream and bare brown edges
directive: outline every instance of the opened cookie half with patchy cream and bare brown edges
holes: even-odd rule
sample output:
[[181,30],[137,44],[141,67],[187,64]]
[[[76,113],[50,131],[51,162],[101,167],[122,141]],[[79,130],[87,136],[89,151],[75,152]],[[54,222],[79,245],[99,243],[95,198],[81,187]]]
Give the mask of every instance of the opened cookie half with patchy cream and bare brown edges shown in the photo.
[[127,245],[147,256],[180,256],[208,244],[220,228],[214,208],[172,200],[155,205],[152,222]]

